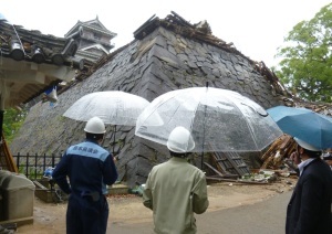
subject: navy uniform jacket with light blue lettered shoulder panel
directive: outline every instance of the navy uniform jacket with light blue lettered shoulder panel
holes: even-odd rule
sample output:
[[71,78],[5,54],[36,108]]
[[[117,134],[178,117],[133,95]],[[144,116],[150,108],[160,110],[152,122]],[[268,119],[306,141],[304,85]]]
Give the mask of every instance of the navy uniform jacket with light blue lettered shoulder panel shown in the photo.
[[68,194],[102,195],[105,184],[112,185],[116,181],[117,171],[112,155],[97,142],[86,140],[65,151],[52,177]]

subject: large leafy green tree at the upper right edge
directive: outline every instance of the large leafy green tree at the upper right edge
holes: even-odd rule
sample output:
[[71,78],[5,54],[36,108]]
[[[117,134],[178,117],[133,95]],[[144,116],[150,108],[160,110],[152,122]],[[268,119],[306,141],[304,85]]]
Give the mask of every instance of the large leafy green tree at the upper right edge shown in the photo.
[[277,54],[281,82],[300,98],[332,103],[332,3],[298,23],[284,42]]

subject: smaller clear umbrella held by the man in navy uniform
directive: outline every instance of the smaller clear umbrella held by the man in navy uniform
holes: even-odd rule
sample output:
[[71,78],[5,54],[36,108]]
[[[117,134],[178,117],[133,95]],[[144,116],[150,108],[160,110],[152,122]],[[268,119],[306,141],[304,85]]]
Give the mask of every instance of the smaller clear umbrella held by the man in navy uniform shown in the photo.
[[63,116],[80,121],[97,116],[105,124],[114,125],[116,132],[116,125],[135,126],[148,104],[145,98],[122,91],[95,92],[77,99]]

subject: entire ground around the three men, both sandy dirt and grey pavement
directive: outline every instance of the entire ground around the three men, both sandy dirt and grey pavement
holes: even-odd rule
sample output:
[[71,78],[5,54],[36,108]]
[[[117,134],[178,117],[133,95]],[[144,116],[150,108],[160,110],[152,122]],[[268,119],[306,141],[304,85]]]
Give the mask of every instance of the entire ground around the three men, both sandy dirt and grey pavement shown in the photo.
[[[197,215],[198,233],[284,233],[286,204],[295,178],[256,185],[218,182],[208,185],[210,205]],[[107,233],[152,233],[153,214],[137,195],[108,198]],[[33,224],[19,226],[15,233],[65,233],[66,203],[44,203],[35,198]],[[243,228],[242,228],[243,227]],[[281,230],[282,227],[282,230]]]

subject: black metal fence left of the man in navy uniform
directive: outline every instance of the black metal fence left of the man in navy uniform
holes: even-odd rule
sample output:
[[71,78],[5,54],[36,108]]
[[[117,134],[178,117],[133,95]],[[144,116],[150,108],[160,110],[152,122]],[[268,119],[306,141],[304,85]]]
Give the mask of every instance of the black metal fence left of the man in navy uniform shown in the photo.
[[14,161],[20,173],[25,174],[30,180],[41,179],[46,168],[54,168],[59,163],[62,155],[46,156],[46,155],[29,155],[21,156],[20,153],[13,156]]

